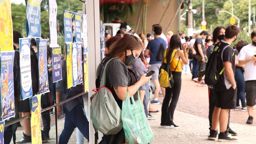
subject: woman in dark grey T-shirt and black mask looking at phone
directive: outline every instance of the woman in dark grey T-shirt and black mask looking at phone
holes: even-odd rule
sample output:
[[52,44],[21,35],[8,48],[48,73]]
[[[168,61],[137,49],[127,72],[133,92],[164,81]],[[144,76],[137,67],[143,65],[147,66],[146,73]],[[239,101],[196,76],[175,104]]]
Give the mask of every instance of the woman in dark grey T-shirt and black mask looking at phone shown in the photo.
[[[97,68],[96,88],[100,87],[100,80],[102,79],[104,68],[106,68],[104,86],[111,91],[120,110],[122,110],[123,100],[126,99],[127,92],[130,97],[133,96],[134,100],[137,101],[137,87],[140,88],[151,78],[151,76],[145,77],[146,74],[144,74],[137,81],[136,75],[127,67],[136,62],[142,48],[143,44],[139,38],[126,35],[110,46],[108,54],[105,54],[106,57]],[[112,58],[115,59],[111,60]],[[109,62],[109,60],[111,61]],[[109,62],[109,64],[105,67],[107,62]],[[104,121],[102,123],[104,123]],[[104,139],[106,144],[124,144],[124,129],[121,128],[119,132],[113,135],[104,135]]]

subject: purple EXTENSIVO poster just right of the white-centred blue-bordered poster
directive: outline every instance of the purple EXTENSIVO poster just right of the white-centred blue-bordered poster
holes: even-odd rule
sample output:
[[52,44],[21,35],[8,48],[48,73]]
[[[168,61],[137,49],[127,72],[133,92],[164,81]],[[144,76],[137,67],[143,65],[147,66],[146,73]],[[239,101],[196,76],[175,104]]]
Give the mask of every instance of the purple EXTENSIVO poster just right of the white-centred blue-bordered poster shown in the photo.
[[40,39],[38,46],[38,68],[39,68],[39,92],[49,92],[48,69],[47,69],[47,39]]

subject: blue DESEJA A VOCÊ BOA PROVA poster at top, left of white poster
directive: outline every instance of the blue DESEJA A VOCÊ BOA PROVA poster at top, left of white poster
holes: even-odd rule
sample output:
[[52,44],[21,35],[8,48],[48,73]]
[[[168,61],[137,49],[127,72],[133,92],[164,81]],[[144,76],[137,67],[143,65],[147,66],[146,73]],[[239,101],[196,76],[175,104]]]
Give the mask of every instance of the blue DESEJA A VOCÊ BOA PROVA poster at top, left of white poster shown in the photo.
[[28,37],[41,37],[40,0],[27,1]]

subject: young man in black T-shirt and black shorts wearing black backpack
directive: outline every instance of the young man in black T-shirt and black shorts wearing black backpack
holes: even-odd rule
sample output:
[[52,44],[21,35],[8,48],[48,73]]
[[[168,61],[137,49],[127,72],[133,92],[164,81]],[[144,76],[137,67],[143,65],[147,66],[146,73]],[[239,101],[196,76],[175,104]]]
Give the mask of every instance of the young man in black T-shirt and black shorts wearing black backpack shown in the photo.
[[[229,128],[227,128],[227,125],[229,110],[236,108],[237,101],[237,85],[234,79],[236,61],[233,48],[230,44],[237,40],[239,32],[240,29],[237,26],[228,26],[226,28],[225,38],[214,47],[214,49],[218,49],[218,54],[215,54],[217,57],[217,71],[223,71],[223,74],[219,75],[217,83],[213,85],[216,103],[212,115],[212,128],[210,129],[210,135],[208,136],[209,140],[216,140],[218,135],[217,128],[219,125],[220,133],[218,135],[218,141],[237,141],[237,139],[232,138],[228,133]],[[212,57],[213,56],[214,54]]]

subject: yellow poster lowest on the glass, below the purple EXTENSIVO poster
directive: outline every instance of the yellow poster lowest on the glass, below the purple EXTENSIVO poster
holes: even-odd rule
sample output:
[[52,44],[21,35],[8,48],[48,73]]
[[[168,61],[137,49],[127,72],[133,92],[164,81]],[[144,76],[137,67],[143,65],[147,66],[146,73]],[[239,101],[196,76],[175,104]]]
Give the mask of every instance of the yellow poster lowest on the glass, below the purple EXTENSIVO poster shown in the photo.
[[41,94],[35,95],[31,101],[31,141],[32,144],[42,144]]

